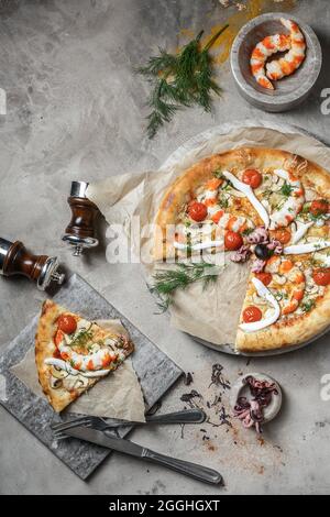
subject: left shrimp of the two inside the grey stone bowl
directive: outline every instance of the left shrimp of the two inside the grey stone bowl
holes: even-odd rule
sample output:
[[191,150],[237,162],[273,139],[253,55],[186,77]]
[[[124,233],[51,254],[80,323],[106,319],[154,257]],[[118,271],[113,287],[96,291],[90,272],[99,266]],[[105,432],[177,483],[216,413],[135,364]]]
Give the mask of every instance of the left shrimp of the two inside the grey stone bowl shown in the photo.
[[270,90],[274,90],[273,84],[265,74],[265,63],[271,55],[276,54],[277,52],[287,51],[290,48],[290,36],[286,34],[274,34],[273,36],[266,36],[263,41],[257,43],[251,54],[250,65],[252,75],[260,86]]

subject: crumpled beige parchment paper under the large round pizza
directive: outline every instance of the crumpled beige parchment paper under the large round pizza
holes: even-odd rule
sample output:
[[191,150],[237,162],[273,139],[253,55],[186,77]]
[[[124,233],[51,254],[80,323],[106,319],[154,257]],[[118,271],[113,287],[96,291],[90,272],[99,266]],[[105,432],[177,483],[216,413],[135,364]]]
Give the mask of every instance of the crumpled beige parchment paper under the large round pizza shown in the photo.
[[[285,125],[284,132],[284,124],[280,128],[272,125],[245,121],[212,128],[179,147],[158,172],[112,176],[88,187],[87,196],[99,207],[107,222],[123,224],[135,256],[141,250],[141,262],[148,282],[158,267],[146,263],[153,233],[138,235],[132,231],[131,221],[139,216],[141,227],[152,224],[167,187],[196,162],[241,146],[261,146],[299,154],[330,170],[330,150],[324,144],[311,135],[301,134],[294,127]],[[249,266],[233,264],[228,257],[226,264],[211,287],[204,290],[196,283],[176,293],[170,306],[170,324],[215,344],[234,343]],[[172,266],[167,264],[165,267]]]

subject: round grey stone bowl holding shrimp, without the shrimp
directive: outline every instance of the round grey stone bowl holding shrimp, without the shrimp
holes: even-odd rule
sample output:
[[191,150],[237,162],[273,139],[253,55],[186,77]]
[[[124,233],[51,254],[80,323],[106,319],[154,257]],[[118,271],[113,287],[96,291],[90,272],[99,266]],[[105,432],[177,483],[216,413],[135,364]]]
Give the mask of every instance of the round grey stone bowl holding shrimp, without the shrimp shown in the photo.
[[[280,18],[298,23],[307,44],[306,58],[290,76],[272,81],[275,90],[261,87],[250,70],[250,57],[255,45],[265,36],[287,33]],[[295,108],[308,96],[322,65],[321,45],[314,30],[287,13],[267,13],[248,22],[237,35],[231,50],[231,70],[241,95],[264,111],[279,112]]]

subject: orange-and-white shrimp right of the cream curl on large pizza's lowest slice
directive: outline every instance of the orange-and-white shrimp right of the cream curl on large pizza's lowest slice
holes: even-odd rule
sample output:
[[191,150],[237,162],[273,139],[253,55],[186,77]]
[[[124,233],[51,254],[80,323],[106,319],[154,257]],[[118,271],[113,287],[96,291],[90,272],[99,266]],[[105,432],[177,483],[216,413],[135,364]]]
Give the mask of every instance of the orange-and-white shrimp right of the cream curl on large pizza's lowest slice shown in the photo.
[[285,292],[285,296],[278,300],[282,315],[294,312],[304,298],[306,288],[304,273],[290,260],[275,255],[268,260],[265,271],[273,276],[268,287],[277,288],[279,284],[280,289]]

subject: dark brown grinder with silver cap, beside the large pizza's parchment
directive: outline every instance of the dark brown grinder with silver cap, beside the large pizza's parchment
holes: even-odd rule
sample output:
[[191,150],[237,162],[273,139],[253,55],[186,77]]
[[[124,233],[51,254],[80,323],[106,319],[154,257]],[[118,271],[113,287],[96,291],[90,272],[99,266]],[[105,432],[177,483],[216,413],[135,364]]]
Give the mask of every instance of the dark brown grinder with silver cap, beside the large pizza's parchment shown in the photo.
[[73,182],[67,200],[72,220],[62,240],[74,246],[74,256],[81,255],[85,248],[95,248],[99,243],[95,231],[98,207],[86,197],[87,187],[88,183]]

